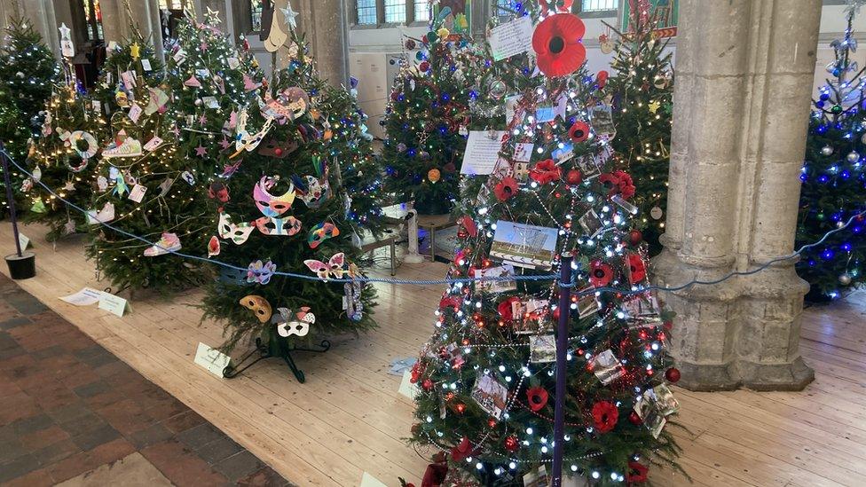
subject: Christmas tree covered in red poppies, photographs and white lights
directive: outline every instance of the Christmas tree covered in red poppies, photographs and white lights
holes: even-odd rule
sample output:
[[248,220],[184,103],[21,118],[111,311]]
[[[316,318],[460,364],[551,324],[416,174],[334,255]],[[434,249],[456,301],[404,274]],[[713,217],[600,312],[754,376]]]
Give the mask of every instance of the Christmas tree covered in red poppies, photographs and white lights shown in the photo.
[[[679,371],[669,368],[670,317],[649,291],[647,246],[632,223],[635,188],[613,167],[611,108],[580,69],[583,22],[541,6],[529,12],[539,19],[531,36],[537,65],[525,70],[537,66],[541,75],[516,100],[500,161],[459,220],[450,271],[499,280],[448,287],[412,371],[413,440],[448,453],[443,484],[519,485],[549,468],[561,313],[565,474],[612,485],[646,480],[650,464],[677,468],[679,449],[664,428],[677,403],[665,377],[677,381]],[[512,21],[524,18],[518,12]],[[563,112],[549,114],[558,100]],[[568,309],[549,279],[563,255],[574,256]]]

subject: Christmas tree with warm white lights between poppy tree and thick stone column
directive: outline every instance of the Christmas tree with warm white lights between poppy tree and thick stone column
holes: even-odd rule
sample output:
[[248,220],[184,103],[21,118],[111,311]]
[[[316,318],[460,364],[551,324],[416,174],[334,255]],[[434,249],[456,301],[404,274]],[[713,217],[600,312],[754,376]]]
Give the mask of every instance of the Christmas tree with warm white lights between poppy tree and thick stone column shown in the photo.
[[657,37],[660,23],[649,5],[634,9],[625,33],[619,33],[616,57],[608,81],[617,114],[613,139],[617,164],[627,168],[639,191],[633,203],[650,245],[650,256],[661,251],[665,232],[667,177],[670,164],[673,102],[672,51]]

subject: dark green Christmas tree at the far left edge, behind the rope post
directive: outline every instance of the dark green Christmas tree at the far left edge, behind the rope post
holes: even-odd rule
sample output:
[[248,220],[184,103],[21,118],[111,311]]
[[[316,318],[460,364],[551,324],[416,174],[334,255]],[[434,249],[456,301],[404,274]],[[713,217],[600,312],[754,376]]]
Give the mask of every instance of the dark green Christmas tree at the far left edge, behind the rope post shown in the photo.
[[28,140],[39,137],[39,112],[60,82],[60,67],[51,49],[23,19],[12,19],[0,51],[0,137],[6,151],[24,160]]

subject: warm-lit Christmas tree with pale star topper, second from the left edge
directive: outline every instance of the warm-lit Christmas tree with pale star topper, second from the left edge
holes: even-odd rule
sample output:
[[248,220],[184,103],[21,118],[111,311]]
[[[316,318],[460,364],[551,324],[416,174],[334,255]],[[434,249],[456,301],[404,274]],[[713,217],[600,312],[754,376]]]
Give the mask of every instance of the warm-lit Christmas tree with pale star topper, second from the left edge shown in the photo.
[[83,232],[89,224],[113,217],[110,208],[94,208],[85,216],[58,198],[79,208],[91,208],[96,189],[94,168],[106,137],[106,118],[98,104],[79,90],[68,64],[65,76],[66,82],[51,93],[40,114],[40,137],[28,148],[27,165],[33,177],[21,185],[29,209],[21,219],[47,224],[51,228],[49,240]]

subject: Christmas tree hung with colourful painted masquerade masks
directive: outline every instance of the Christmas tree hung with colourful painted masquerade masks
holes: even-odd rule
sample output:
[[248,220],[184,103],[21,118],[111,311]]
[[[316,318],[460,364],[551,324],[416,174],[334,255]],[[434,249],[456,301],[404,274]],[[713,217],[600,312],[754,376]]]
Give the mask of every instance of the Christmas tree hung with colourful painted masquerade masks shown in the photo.
[[203,308],[225,324],[225,349],[261,338],[287,356],[314,337],[374,326],[371,287],[325,281],[360,275],[355,242],[376,230],[381,209],[354,98],[327,87],[293,19],[279,17],[285,24],[275,20],[265,43],[288,31],[286,67],[257,91],[262,98],[240,108],[235,141],[219,155],[224,173],[211,185],[218,224],[209,254],[244,271],[222,267]]

